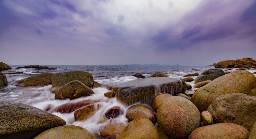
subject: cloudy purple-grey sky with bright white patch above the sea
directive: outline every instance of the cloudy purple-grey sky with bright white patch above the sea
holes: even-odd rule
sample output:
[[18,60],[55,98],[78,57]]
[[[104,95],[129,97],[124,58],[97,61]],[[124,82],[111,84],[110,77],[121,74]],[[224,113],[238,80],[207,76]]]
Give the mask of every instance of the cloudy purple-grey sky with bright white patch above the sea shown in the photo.
[[256,0],[0,0],[12,65],[211,65],[256,58]]

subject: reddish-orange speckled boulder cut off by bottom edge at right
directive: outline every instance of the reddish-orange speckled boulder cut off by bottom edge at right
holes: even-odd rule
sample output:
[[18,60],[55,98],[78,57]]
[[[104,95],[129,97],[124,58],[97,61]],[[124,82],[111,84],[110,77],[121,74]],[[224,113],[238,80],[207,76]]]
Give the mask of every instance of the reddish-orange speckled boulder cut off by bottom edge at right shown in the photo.
[[196,128],[189,139],[247,139],[249,131],[234,123],[217,123]]

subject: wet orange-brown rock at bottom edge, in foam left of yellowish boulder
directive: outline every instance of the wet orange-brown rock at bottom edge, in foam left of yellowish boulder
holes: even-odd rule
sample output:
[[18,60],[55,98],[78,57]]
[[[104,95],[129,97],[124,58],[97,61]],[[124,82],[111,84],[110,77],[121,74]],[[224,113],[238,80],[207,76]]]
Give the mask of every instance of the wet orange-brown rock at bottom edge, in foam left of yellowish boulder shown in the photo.
[[103,138],[115,137],[126,127],[126,125],[126,123],[108,123],[101,128],[100,136]]

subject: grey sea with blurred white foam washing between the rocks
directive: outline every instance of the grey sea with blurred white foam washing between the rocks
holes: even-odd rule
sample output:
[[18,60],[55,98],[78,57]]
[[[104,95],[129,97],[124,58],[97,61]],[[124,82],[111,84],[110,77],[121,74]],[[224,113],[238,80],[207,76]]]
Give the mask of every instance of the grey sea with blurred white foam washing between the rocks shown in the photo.
[[[45,65],[48,67],[55,67],[56,70],[37,70],[37,69],[16,69],[17,67],[21,67],[24,65],[10,65],[12,67],[11,71],[23,72],[24,74],[6,74],[8,80],[8,86],[0,89],[0,101],[9,101],[9,102],[17,102],[23,103],[27,105],[34,106],[36,108],[46,110],[49,106],[52,108],[58,107],[65,103],[83,101],[83,100],[101,100],[97,102],[101,107],[96,110],[96,112],[85,121],[75,121],[74,112],[72,113],[57,113],[52,112],[52,114],[59,116],[60,118],[66,121],[67,125],[76,125],[83,127],[90,131],[95,135],[100,135],[100,130],[106,124],[111,122],[120,122],[120,123],[128,123],[128,119],[126,119],[126,113],[119,115],[114,119],[106,119],[105,112],[113,107],[120,106],[124,111],[126,111],[130,105],[123,104],[114,98],[107,98],[104,96],[104,93],[110,91],[108,87],[111,84],[128,82],[131,80],[137,80],[132,75],[136,73],[141,73],[145,77],[150,76],[156,71],[161,71],[167,74],[170,78],[185,78],[182,75],[191,74],[194,72],[202,73],[206,69],[211,69],[214,67],[207,66],[107,66],[107,65]],[[223,69],[224,70],[224,69]],[[92,74],[94,81],[102,84],[105,87],[97,87],[92,89],[95,94],[86,97],[80,97],[74,100],[55,100],[55,94],[50,92],[52,85],[44,86],[44,87],[20,87],[16,86],[15,82],[17,80],[27,78],[36,74],[51,72],[67,72],[67,71],[86,71]],[[255,70],[248,70],[253,73]],[[255,74],[254,74],[255,75]],[[192,78],[196,78],[192,77]],[[194,93],[194,81],[190,82],[192,85],[192,89],[187,90],[186,93],[192,94]],[[145,104],[147,105],[147,104]],[[150,105],[147,105],[151,108]],[[155,124],[157,126],[157,123]],[[101,137],[98,137],[101,138]]]

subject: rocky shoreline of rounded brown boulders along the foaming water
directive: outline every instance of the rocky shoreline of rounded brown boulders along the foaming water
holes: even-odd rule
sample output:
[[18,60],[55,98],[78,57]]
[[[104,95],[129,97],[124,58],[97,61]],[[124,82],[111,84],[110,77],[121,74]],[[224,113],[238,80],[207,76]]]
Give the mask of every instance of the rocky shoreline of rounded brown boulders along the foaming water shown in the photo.
[[[248,58],[234,61],[234,66],[230,61],[221,66],[238,67],[246,60],[250,63],[243,68],[253,68],[250,65],[255,61]],[[162,72],[145,78],[138,73],[134,76],[142,79],[111,85],[104,96],[116,97],[130,108],[124,111],[119,106],[111,107],[101,122],[126,114],[129,123],[109,123],[100,129],[99,135],[93,135],[85,128],[66,125],[63,119],[51,113],[73,112],[76,121],[85,121],[101,107],[98,102],[107,101],[105,99],[75,101],[58,107],[49,105],[45,110],[0,101],[0,138],[96,139],[116,138],[117,135],[117,139],[256,138],[255,75],[246,69],[224,71],[219,69],[218,63],[216,69],[183,75],[184,78],[169,78]],[[193,88],[198,89],[187,95],[187,90],[192,88],[189,82],[193,80]],[[94,94],[92,88],[104,87],[95,82],[90,73],[83,71],[42,73],[16,82],[19,86],[51,84],[51,92],[59,100],[90,96]],[[0,88],[7,85],[5,75],[0,72]]]

